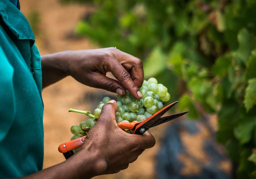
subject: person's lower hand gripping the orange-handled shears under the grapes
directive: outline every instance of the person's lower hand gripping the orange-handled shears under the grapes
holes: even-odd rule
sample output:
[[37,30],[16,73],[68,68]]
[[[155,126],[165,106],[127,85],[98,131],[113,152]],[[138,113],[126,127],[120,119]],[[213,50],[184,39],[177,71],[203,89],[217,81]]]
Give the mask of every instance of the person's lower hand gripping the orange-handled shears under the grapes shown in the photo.
[[[95,161],[94,176],[126,169],[145,149],[155,145],[155,138],[148,131],[138,135],[129,134],[119,128],[115,121],[116,110],[114,100],[103,106],[101,115],[89,131],[83,146],[78,153],[70,157],[83,160],[89,153],[89,157]],[[84,167],[87,165],[90,164],[84,163]]]

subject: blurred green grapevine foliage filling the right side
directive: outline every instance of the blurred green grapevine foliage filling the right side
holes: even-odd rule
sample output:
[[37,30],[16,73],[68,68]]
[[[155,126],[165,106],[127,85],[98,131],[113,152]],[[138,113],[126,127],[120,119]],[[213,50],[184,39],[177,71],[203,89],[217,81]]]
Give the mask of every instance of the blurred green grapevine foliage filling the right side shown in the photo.
[[216,113],[216,140],[256,176],[255,0],[61,0],[96,7],[75,31],[141,58],[191,119]]

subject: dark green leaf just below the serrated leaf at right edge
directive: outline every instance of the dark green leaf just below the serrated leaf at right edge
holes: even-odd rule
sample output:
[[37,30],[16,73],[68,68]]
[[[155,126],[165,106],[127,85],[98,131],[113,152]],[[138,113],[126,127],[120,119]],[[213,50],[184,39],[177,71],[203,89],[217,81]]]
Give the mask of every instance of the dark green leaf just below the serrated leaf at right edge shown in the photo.
[[247,119],[246,121],[239,123],[239,125],[234,129],[234,135],[241,144],[245,144],[250,141],[255,124],[256,119],[252,117],[251,119]]

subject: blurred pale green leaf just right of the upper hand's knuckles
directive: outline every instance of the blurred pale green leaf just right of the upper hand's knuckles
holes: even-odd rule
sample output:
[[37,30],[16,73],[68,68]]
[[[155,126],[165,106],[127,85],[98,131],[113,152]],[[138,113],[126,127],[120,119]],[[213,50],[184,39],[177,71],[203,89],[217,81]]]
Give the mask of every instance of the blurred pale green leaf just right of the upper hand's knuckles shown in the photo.
[[144,75],[146,78],[156,76],[166,68],[166,56],[161,48],[156,46],[146,61],[143,63]]

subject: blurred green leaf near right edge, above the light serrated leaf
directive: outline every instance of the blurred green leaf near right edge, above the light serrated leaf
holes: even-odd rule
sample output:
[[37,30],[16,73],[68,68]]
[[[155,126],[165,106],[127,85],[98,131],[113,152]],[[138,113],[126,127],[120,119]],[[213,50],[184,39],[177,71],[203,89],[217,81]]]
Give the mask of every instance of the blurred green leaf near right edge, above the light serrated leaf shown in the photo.
[[238,57],[246,64],[251,50],[255,47],[255,36],[251,35],[246,28],[243,28],[237,34],[237,40],[239,43]]

